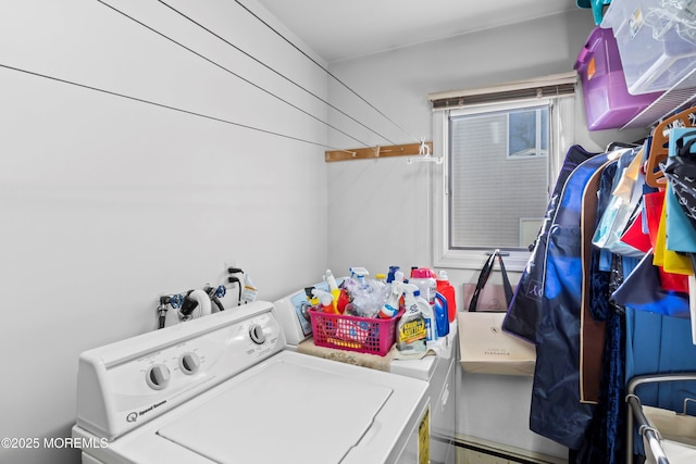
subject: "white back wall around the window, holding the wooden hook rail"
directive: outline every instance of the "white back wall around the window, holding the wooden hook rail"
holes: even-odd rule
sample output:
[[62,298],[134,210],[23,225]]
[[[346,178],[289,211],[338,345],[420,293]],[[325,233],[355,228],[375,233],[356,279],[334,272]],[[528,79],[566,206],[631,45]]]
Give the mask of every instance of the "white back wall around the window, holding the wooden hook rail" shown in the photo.
[[[433,140],[428,92],[481,87],[572,71],[594,23],[588,10],[488,29],[446,40],[336,62],[331,71],[389,116],[365,108],[335,83],[332,102],[361,109],[371,127],[396,143],[425,136]],[[408,34],[405,30],[405,34]],[[602,151],[614,140],[632,141],[644,130],[588,133],[582,97],[577,104],[575,143]],[[349,124],[330,113],[331,121]],[[398,126],[405,130],[399,129]],[[351,133],[370,145],[390,145],[360,127]],[[436,141],[436,140],[435,140]],[[332,145],[355,142],[332,133]],[[437,147],[436,147],[436,155]],[[409,165],[402,158],[357,160],[328,166],[328,263],[346,271],[362,265],[373,273],[389,265],[431,265],[428,164]],[[482,254],[482,262],[484,256]],[[449,269],[458,292],[474,271]],[[460,296],[459,296],[460,297]],[[461,308],[461,305],[460,305]],[[526,450],[564,456],[567,450],[529,430],[530,378],[458,374],[457,430]]]

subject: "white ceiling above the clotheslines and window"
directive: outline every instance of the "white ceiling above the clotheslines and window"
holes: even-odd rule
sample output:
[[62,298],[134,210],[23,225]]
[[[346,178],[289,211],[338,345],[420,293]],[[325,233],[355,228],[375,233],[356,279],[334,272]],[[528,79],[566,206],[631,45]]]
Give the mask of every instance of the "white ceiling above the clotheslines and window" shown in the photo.
[[258,1],[326,62],[577,9],[575,0]]

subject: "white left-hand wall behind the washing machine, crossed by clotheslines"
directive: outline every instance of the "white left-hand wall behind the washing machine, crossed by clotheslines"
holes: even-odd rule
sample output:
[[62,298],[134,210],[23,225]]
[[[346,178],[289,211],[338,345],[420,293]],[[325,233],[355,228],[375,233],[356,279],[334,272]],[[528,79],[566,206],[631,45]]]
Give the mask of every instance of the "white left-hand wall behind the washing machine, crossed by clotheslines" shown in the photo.
[[[325,118],[323,103],[159,2],[108,3]],[[236,2],[169,3],[326,96],[325,74]],[[154,329],[163,292],[216,285],[228,261],[261,299],[320,278],[324,147],[8,66],[320,143],[326,126],[100,2],[0,11],[0,437],[65,438],[78,354]],[[0,462],[78,453],[0,449]]]

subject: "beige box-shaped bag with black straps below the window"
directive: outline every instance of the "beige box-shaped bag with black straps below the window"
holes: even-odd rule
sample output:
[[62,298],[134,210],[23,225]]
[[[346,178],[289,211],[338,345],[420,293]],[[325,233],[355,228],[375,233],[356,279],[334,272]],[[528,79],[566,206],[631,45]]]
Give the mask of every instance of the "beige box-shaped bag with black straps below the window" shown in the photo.
[[[489,277],[496,259],[500,265],[502,284]],[[457,314],[460,364],[465,372],[500,375],[534,375],[536,348],[502,330],[506,309],[512,299],[512,287],[496,250],[485,262],[476,284],[469,286],[464,311]],[[478,311],[497,306],[502,311]]]

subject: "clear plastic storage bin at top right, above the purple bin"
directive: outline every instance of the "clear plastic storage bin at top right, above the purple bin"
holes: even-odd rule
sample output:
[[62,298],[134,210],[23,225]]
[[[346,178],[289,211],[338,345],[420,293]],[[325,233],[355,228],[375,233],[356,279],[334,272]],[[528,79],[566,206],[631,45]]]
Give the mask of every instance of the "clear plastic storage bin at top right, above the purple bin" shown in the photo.
[[601,23],[617,38],[632,95],[694,87],[696,1],[612,0]]

